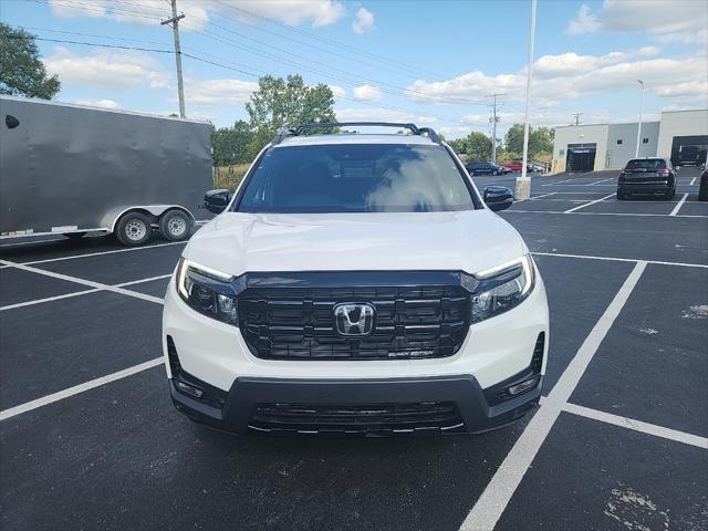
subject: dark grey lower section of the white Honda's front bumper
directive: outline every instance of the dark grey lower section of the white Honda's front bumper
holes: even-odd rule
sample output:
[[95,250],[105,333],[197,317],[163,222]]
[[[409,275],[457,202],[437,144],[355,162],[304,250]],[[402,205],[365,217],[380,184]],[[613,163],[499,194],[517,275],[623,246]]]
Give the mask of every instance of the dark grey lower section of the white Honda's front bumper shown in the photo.
[[222,397],[222,407],[220,400],[208,404],[187,396],[174,379],[170,392],[176,408],[190,419],[238,434],[480,433],[533,409],[541,396],[541,376],[534,382],[534,388],[497,405],[470,375],[366,381],[244,377]]

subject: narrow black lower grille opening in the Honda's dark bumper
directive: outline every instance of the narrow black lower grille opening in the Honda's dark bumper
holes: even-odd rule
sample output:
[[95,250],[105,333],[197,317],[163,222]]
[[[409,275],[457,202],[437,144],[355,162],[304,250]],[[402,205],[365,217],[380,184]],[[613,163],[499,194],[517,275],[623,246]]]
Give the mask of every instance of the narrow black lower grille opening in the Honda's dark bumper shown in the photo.
[[257,404],[249,427],[259,431],[410,433],[462,429],[451,402],[367,405]]

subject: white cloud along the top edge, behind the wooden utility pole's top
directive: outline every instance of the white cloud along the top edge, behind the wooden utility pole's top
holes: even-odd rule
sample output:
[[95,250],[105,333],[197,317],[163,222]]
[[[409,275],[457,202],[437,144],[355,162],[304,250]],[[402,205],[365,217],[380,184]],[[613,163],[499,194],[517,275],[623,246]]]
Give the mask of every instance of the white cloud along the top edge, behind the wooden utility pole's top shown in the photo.
[[[171,17],[169,3],[164,0],[83,0],[80,4],[49,0],[52,11],[64,18],[108,18],[118,22],[155,25],[158,20]],[[186,18],[179,21],[180,29],[204,28],[209,21],[209,12],[237,20],[260,23],[262,18],[287,24],[310,23],[314,28],[333,24],[345,14],[344,4],[334,0],[200,0],[183,1],[179,12]]]

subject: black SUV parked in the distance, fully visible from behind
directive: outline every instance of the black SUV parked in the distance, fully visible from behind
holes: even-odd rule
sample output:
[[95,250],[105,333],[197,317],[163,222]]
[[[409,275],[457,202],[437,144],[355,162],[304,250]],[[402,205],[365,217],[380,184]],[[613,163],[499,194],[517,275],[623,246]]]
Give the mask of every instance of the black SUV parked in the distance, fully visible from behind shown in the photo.
[[631,195],[662,195],[673,199],[676,195],[676,173],[667,158],[633,158],[617,179],[617,199]]

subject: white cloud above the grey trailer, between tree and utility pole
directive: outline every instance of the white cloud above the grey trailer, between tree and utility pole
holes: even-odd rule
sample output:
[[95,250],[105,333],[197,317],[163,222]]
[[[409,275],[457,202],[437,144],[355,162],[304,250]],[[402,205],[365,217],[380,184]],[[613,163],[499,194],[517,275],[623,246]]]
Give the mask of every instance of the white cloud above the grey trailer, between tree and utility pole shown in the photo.
[[96,50],[88,55],[75,54],[56,46],[44,58],[46,71],[58,74],[62,84],[80,84],[96,88],[125,91],[149,86],[168,86],[169,75],[157,61],[143,52]]

